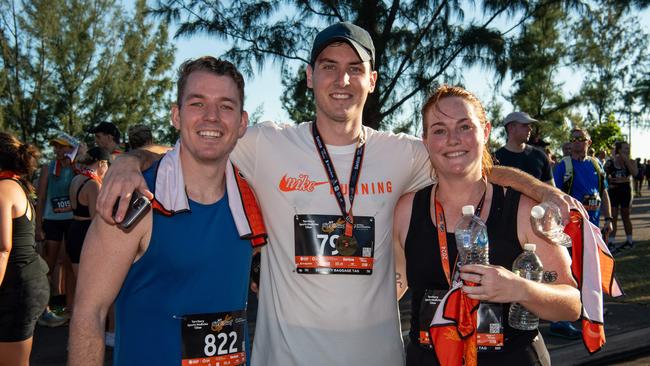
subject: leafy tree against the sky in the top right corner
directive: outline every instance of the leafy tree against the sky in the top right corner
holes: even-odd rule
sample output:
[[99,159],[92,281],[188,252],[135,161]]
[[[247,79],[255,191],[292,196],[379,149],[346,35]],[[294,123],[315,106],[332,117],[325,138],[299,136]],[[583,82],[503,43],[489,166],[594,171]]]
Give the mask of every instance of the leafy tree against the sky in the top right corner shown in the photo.
[[573,28],[573,60],[587,73],[581,95],[596,123],[618,111],[630,114],[624,91],[636,83],[637,68],[648,59],[648,35],[627,16],[629,10],[626,2],[603,0]]

